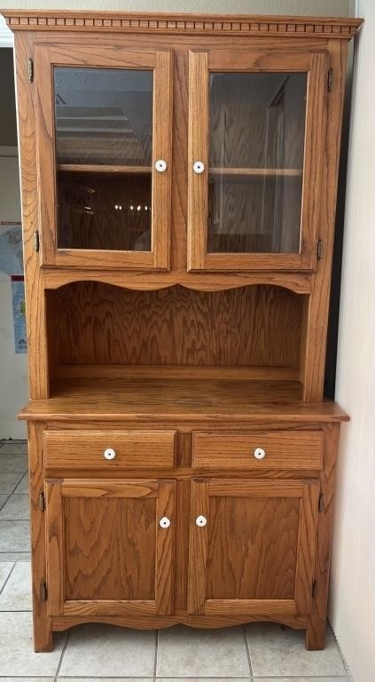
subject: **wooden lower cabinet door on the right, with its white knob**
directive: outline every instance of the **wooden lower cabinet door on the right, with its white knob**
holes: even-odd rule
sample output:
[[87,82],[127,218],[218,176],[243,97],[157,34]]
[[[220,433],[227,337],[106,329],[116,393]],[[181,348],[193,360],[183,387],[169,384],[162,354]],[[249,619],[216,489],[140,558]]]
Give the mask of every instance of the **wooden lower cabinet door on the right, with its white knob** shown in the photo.
[[188,612],[307,615],[319,484],[194,480]]

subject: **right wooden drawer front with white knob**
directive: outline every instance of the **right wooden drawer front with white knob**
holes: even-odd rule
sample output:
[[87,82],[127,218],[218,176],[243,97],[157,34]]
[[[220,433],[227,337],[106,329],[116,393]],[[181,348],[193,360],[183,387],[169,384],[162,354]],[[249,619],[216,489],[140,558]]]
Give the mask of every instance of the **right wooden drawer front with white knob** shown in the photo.
[[321,469],[324,435],[318,431],[195,432],[196,469]]

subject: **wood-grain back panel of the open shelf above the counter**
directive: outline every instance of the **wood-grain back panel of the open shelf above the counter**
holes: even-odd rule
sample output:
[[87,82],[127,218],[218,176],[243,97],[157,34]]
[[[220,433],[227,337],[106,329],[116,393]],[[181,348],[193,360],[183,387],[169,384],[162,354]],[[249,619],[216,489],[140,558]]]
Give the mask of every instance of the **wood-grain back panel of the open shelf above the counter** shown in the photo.
[[302,298],[272,286],[51,292],[58,364],[298,368]]

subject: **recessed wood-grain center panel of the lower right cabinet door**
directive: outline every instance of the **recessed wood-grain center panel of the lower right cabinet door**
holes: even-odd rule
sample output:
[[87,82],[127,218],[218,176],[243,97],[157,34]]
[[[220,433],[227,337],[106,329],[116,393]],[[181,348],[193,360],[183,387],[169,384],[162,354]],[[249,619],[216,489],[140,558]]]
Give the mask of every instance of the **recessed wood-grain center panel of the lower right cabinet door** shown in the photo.
[[207,599],[294,599],[298,497],[210,497]]

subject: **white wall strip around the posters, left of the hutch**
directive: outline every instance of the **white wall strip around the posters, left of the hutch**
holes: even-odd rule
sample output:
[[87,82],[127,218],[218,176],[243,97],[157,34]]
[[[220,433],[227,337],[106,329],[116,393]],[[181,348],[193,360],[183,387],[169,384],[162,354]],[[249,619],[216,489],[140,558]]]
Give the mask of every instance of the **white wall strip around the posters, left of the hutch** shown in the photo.
[[[20,220],[17,157],[0,156],[0,220]],[[0,272],[0,439],[25,438],[16,414],[27,402],[27,355],[14,353],[11,278]]]

